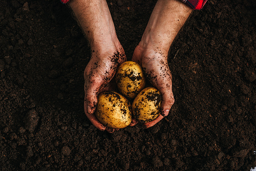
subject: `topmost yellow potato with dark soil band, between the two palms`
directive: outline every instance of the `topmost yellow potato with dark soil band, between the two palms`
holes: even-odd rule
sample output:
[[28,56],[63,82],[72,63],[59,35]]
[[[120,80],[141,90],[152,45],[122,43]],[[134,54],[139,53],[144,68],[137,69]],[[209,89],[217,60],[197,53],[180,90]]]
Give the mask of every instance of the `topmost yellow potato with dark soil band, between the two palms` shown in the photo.
[[116,72],[116,84],[121,94],[133,99],[145,87],[145,77],[140,65],[134,61],[121,63]]

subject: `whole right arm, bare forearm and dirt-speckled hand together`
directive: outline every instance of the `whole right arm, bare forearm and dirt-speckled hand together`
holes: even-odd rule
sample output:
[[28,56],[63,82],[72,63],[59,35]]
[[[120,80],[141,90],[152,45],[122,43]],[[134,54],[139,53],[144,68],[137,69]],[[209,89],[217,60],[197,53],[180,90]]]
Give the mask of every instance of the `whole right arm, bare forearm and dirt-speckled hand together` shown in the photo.
[[[133,60],[140,63],[146,78],[162,94],[162,115],[144,123],[146,127],[155,125],[167,116],[174,104],[172,74],[167,63],[168,50],[191,12],[192,9],[182,1],[158,0],[141,41],[134,51]],[[131,126],[136,123],[133,120]]]

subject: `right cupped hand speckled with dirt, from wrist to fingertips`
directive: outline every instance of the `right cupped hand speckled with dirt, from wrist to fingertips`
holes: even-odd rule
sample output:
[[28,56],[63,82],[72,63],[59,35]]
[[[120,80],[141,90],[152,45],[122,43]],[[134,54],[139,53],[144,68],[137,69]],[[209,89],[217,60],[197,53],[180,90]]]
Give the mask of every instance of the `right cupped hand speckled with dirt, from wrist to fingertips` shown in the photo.
[[[168,115],[170,108],[174,104],[174,95],[172,91],[172,74],[167,63],[167,51],[161,51],[159,48],[137,46],[132,60],[139,63],[143,69],[146,79],[149,80],[162,94],[161,115],[151,122],[144,123],[146,128],[158,123]],[[138,121],[134,120],[130,124],[133,126]]]

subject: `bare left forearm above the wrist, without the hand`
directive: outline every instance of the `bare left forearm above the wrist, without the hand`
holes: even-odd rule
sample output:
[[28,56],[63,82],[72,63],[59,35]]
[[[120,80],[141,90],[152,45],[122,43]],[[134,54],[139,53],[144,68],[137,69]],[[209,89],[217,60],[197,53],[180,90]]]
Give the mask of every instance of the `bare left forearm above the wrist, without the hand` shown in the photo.
[[69,3],[92,47],[119,46],[108,4],[102,0],[72,0]]

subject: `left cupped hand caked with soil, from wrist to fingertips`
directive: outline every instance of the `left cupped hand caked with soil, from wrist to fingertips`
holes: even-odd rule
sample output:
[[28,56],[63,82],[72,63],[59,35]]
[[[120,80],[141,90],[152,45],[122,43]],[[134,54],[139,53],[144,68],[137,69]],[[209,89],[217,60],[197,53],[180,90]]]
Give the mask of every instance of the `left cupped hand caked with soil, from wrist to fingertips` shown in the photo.
[[121,45],[118,48],[105,49],[93,50],[92,58],[84,70],[84,113],[97,129],[113,133],[115,130],[103,125],[94,112],[98,95],[113,88],[114,82],[111,80],[126,56]]

